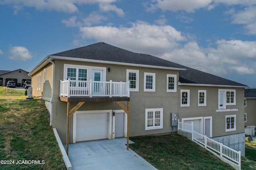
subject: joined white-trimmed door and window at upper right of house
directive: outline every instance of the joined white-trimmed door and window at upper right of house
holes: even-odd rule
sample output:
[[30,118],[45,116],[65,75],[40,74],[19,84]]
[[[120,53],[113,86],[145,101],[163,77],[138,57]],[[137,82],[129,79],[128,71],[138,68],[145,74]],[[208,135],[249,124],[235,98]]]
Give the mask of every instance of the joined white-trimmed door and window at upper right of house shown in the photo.
[[236,105],[236,90],[219,89],[219,109],[226,109],[228,105]]

